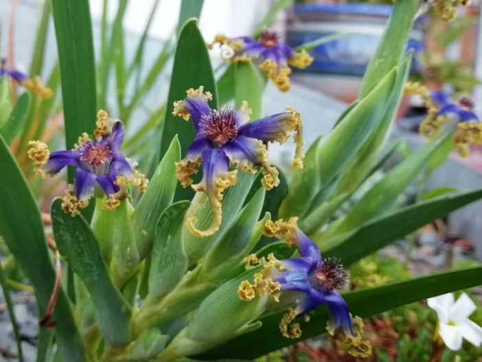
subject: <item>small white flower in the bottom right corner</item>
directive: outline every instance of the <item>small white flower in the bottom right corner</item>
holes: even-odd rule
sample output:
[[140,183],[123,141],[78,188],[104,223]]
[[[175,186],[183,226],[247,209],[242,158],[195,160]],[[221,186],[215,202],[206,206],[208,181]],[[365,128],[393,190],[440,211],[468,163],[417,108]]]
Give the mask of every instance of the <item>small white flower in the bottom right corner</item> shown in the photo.
[[460,350],[462,338],[479,347],[482,343],[482,328],[468,317],[474,313],[476,306],[466,294],[454,302],[452,293],[428,298],[428,306],[437,312],[439,317],[439,335],[450,350]]

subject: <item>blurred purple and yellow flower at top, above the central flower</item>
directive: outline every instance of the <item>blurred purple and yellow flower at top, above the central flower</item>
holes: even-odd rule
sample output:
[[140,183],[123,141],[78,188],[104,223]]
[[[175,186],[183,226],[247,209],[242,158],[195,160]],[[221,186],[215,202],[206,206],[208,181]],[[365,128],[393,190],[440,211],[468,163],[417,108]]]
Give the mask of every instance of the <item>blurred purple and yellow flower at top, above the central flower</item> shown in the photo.
[[275,83],[282,92],[290,90],[291,67],[306,68],[313,58],[304,50],[295,52],[288,44],[279,43],[274,32],[264,30],[255,40],[249,36],[228,38],[217,35],[209,49],[219,44],[221,56],[227,62],[242,62],[259,60],[260,69],[266,71],[268,78]]

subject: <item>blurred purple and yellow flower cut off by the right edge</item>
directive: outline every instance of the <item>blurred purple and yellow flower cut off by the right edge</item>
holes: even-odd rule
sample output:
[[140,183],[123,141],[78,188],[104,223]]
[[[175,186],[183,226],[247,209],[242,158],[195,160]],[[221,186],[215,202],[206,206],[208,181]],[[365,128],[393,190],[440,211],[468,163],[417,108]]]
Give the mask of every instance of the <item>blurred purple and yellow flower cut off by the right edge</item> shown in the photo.
[[422,96],[424,106],[428,109],[426,119],[420,124],[420,135],[431,139],[437,137],[441,126],[455,117],[457,133],[454,149],[462,157],[470,154],[470,146],[482,144],[482,123],[473,112],[474,104],[469,97],[461,97],[452,102],[447,95],[440,91],[428,91],[422,84],[407,83],[406,94]]

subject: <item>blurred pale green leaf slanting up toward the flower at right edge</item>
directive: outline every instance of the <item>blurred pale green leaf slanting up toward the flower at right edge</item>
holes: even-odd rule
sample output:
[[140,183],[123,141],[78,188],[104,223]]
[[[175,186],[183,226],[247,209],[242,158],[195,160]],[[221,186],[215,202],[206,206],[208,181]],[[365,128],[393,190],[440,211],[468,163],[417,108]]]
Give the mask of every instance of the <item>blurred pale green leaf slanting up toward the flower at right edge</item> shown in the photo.
[[[449,130],[438,139],[427,142],[419,151],[390,170],[387,176],[378,181],[344,218],[338,219],[330,225],[328,230],[323,233],[323,238],[351,231],[388,210],[395,203],[398,195],[424,168],[428,158],[444,145],[451,134],[452,132]],[[327,241],[325,240],[324,243],[326,245]]]

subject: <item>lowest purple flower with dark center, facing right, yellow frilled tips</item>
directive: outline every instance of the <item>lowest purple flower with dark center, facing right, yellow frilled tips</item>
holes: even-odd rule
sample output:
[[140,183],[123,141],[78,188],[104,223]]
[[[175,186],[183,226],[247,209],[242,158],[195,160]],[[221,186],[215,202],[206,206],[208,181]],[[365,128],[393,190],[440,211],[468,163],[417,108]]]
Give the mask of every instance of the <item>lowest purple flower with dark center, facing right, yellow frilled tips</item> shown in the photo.
[[277,260],[273,254],[268,258],[257,258],[254,254],[246,258],[246,268],[262,264],[263,269],[255,273],[254,281],[244,280],[238,289],[238,297],[249,301],[256,295],[271,295],[274,308],[291,306],[284,315],[279,328],[288,338],[301,335],[299,324],[293,319],[326,304],[330,312],[331,328],[353,334],[352,318],[343,297],[336,291],[347,283],[348,273],[334,260],[322,260],[317,245],[297,227],[297,218],[285,222],[266,222],[263,234],[284,240],[298,249],[300,258]]

